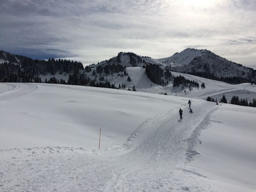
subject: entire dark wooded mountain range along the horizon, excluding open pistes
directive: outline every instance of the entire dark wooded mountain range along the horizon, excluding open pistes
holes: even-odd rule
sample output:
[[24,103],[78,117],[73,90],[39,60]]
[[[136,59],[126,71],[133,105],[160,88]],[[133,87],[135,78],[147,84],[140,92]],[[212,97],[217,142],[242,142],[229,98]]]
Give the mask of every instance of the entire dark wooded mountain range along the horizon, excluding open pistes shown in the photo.
[[[127,71],[125,69],[128,67],[147,68],[147,66],[151,65],[152,67],[149,70],[151,71],[151,75],[146,73],[150,81],[164,86],[171,81],[170,76],[166,77],[164,74],[165,72],[169,73],[167,69],[169,71],[201,76],[232,84],[251,83],[255,81],[255,70],[252,68],[228,61],[208,50],[191,48],[162,59],[139,56],[132,52],[119,52],[116,57],[86,66],[85,68],[81,62],[60,59],[49,59],[48,61],[33,60],[20,55],[12,55],[4,51],[0,51],[0,59],[10,62],[5,65],[0,64],[0,82],[44,81],[45,83],[59,83],[61,81],[62,84],[114,88],[119,83],[124,83],[124,81],[122,79],[122,81],[116,82],[117,85],[112,85],[113,77],[111,76],[126,76]],[[41,79],[36,78],[36,76]],[[50,79],[51,77],[54,78]]]

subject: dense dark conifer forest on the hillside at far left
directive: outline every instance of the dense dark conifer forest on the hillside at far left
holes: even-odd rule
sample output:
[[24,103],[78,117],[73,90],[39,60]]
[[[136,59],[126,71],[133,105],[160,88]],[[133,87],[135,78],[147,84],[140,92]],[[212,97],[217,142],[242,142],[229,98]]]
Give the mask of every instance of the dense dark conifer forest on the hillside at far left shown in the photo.
[[0,58],[10,62],[0,63],[0,82],[21,82],[31,83],[40,74],[55,75],[68,74],[73,71],[83,70],[81,62],[70,60],[35,60],[21,55],[13,55],[8,52],[0,51]]

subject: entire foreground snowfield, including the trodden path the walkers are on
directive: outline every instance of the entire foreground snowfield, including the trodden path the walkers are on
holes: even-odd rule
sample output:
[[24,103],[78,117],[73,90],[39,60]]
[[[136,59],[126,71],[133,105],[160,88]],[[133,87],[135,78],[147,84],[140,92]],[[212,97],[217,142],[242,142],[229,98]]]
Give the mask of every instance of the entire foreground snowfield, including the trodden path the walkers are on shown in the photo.
[[[134,78],[138,87],[146,80]],[[255,108],[193,99],[189,113],[185,97],[8,84],[0,84],[2,191],[256,188]]]

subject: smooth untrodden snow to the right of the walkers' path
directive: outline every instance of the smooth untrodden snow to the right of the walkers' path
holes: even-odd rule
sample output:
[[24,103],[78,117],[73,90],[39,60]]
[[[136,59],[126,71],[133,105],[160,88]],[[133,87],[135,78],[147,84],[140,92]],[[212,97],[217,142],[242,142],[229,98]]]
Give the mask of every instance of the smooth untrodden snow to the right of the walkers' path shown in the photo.
[[223,183],[225,191],[255,190],[255,114],[255,108],[223,104],[206,119],[211,125],[200,136],[200,155],[188,168],[210,178],[216,191],[224,191]]

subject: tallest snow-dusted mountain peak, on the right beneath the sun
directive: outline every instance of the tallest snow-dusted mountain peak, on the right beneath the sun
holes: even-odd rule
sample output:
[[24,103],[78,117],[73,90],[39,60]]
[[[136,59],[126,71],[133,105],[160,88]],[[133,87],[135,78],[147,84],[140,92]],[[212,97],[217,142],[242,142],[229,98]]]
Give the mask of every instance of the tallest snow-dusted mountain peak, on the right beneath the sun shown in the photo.
[[256,70],[253,70],[253,68],[229,61],[206,49],[187,48],[180,53],[173,54],[171,57],[148,58],[147,61],[159,64],[162,68],[168,68],[170,71],[226,82],[233,78],[237,79],[237,83],[245,83],[251,80],[255,81],[256,78]]

